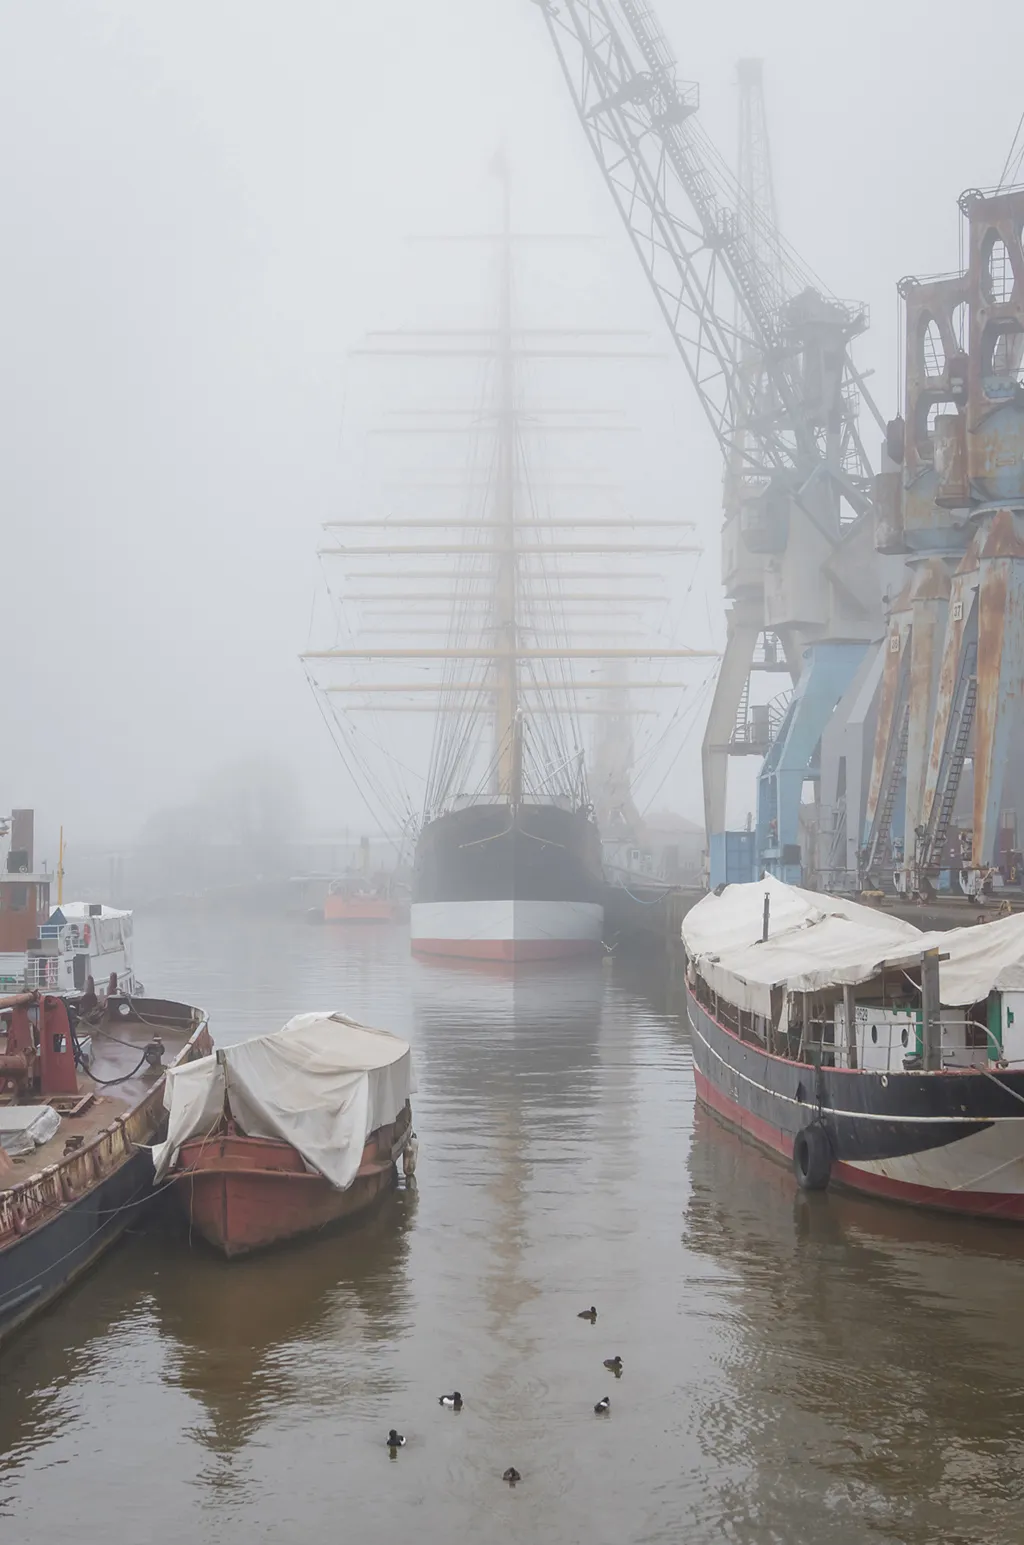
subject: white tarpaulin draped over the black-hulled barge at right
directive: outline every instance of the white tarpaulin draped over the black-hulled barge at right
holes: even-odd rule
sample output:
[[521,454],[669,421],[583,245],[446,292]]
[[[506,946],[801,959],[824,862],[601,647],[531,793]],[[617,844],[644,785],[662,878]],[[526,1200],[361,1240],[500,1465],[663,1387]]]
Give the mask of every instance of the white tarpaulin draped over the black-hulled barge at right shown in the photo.
[[[761,942],[766,895],[769,924]],[[698,901],[683,919],[683,944],[709,987],[766,1018],[772,987],[792,993],[856,986],[882,966],[913,966],[928,949],[950,956],[939,966],[939,997],[947,1006],[979,1003],[992,989],[1024,989],[1024,915],[922,933],[874,907],[769,876]]]

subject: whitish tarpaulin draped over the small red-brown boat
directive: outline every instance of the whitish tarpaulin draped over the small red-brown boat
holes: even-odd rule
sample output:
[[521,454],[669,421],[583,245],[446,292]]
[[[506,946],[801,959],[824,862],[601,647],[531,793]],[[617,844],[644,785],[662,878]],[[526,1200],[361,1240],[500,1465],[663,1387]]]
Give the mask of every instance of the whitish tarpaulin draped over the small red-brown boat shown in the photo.
[[409,1043],[343,1014],[298,1014],[283,1031],[171,1068],[164,1088],[167,1142],[156,1179],[227,1108],[249,1137],[280,1137],[340,1191],[355,1179],[366,1139],[397,1119],[412,1092]]

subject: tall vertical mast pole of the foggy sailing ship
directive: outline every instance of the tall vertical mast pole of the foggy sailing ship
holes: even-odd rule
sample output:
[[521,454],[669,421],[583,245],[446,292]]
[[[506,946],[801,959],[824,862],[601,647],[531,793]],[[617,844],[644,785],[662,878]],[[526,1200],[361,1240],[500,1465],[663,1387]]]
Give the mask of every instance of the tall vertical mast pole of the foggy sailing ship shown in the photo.
[[516,365],[513,354],[511,187],[505,158],[497,162],[502,184],[500,312],[497,323],[497,584],[494,638],[497,658],[494,762],[496,793],[511,805],[522,799],[522,723],[519,720],[519,595],[516,552]]

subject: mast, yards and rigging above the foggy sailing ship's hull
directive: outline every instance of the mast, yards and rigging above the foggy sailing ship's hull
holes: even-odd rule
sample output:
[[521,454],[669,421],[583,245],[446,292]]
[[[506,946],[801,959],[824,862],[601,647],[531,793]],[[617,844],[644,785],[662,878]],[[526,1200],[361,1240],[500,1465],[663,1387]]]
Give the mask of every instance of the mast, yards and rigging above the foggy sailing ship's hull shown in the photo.
[[[502,199],[499,229],[459,238],[485,241],[497,256],[497,307],[490,326],[398,328],[369,334],[355,351],[377,360],[487,362],[479,402],[391,409],[397,422],[372,431],[471,436],[468,465],[456,482],[446,474],[457,468],[431,465],[429,477],[380,485],[380,496],[406,487],[440,496],[440,508],[358,511],[324,522],[337,538],[318,555],[343,564],[343,590],[331,587],[340,637],[332,647],[303,654],[310,686],[332,735],[337,729],[335,743],[360,793],[398,825],[420,819],[400,786],[398,772],[409,774],[409,768],[402,766],[403,759],[388,759],[386,729],[374,728],[374,715],[429,712],[436,718],[423,820],[451,808],[454,799],[476,799],[485,789],[513,808],[534,797],[579,802],[584,785],[578,720],[621,714],[626,663],[692,661],[712,654],[666,646],[661,624],[652,623],[655,609],[664,615],[669,596],[666,572],[650,559],[698,553],[698,545],[681,539],[690,522],[643,513],[593,514],[588,508],[576,513],[571,504],[548,510],[547,497],[536,499],[537,490],[559,501],[581,493],[607,496],[609,485],[595,479],[590,460],[582,470],[533,476],[527,436],[604,437],[629,430],[605,422],[616,417],[613,409],[564,402],[525,405],[520,362],[633,360],[647,358],[649,351],[638,348],[633,340],[644,335],[632,329],[519,321],[517,244],[575,238],[514,233],[504,158],[496,159],[494,171]],[[439,477],[439,471],[445,476]],[[448,504],[448,488],[466,494],[460,508]],[[602,567],[607,559],[613,562]],[[649,567],[638,567],[644,562]],[[647,590],[647,582],[655,589]],[[622,623],[641,620],[644,627],[622,629]],[[391,641],[378,641],[380,635],[391,635]],[[332,661],[366,669],[354,680],[318,680]],[[612,680],[601,675],[604,661],[621,664]],[[405,669],[395,677],[398,667]],[[675,692],[687,686],[661,678],[630,684]],[[615,706],[601,701],[607,692],[615,695]],[[358,729],[361,715],[371,717],[366,734]],[[380,757],[371,772],[372,752]]]

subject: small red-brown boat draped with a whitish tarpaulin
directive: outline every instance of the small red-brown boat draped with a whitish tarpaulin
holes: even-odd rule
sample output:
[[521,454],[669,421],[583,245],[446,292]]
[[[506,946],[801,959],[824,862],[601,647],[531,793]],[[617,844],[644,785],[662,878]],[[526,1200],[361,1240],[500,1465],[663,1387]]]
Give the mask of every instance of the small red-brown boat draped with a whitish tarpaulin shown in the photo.
[[219,1049],[167,1088],[170,1174],[192,1228],[225,1256],[352,1217],[411,1173],[408,1041],[343,1014],[300,1014]]

